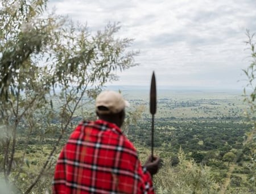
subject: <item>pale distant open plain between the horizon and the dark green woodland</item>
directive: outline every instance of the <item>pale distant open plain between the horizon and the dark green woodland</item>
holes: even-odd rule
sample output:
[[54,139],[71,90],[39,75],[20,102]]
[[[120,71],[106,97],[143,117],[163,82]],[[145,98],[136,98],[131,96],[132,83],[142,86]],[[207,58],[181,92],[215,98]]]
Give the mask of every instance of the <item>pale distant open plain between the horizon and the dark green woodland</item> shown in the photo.
[[[133,106],[149,107],[149,92],[146,90],[125,91],[124,96]],[[241,117],[246,109],[239,91],[160,90],[157,98],[156,118]]]

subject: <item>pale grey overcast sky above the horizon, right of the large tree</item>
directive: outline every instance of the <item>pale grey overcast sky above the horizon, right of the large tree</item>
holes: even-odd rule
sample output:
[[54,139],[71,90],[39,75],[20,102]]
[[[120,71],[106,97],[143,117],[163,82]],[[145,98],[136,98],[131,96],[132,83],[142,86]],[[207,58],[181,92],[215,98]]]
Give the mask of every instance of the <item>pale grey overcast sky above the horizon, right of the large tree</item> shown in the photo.
[[57,14],[87,23],[90,31],[120,22],[134,39],[140,65],[118,73],[113,85],[236,88],[249,64],[246,29],[256,32],[256,0],[49,0]]

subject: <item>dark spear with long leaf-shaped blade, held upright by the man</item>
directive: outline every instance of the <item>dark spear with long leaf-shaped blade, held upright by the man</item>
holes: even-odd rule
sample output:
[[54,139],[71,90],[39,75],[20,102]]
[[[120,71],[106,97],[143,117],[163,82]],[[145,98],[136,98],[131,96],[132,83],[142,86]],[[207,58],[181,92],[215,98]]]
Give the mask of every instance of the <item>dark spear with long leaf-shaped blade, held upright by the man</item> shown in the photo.
[[153,71],[150,86],[150,113],[152,115],[152,126],[151,126],[151,155],[153,161],[154,151],[154,115],[156,112],[156,85],[155,85],[155,72]]

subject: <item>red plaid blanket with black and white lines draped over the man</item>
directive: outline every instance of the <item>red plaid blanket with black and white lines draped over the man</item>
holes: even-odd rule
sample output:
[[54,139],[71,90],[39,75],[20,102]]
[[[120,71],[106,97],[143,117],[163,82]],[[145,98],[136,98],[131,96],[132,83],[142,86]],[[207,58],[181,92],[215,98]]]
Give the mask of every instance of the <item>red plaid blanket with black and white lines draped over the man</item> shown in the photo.
[[154,193],[133,144],[117,125],[82,122],[57,161],[53,193]]

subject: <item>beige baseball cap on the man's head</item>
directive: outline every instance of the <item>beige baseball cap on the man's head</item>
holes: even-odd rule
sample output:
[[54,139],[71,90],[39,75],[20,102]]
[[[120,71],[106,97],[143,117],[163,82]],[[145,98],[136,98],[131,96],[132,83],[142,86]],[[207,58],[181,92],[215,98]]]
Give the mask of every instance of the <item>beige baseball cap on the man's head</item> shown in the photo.
[[118,113],[130,104],[116,91],[102,91],[96,98],[96,112],[100,114]]

